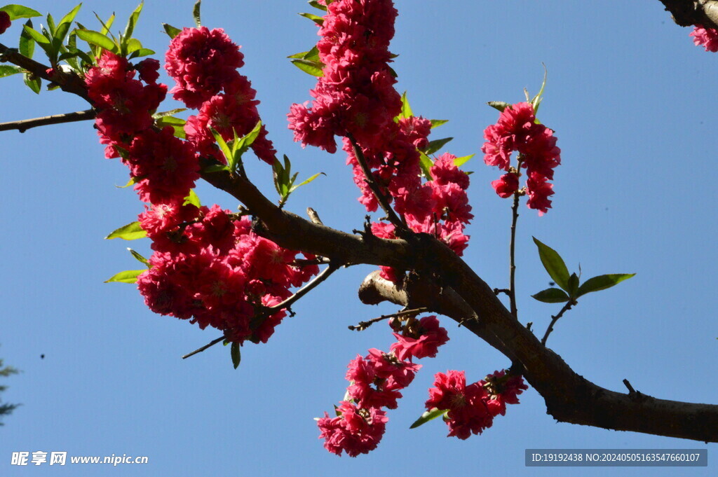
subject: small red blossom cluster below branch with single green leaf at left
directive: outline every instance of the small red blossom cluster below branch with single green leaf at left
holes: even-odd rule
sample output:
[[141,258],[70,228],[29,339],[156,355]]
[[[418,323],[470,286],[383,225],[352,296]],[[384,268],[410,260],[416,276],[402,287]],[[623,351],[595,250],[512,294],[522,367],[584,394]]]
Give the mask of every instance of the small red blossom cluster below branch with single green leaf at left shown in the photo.
[[528,386],[523,378],[506,374],[505,370],[469,385],[463,371],[437,373],[426,410],[447,410],[444,420],[449,436],[467,439],[490,428],[497,415],[505,415],[507,404],[518,404],[517,396],[524,389]]

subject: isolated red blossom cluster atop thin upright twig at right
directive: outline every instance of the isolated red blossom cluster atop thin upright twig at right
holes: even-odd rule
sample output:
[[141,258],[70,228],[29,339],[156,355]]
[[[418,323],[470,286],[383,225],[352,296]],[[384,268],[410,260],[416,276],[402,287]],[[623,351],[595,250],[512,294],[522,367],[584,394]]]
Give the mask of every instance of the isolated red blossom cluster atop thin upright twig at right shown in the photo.
[[[526,168],[528,207],[543,215],[551,208],[554,194],[554,168],[561,164],[561,149],[556,147],[554,131],[536,122],[531,103],[507,106],[495,124],[484,131],[486,142],[481,148],[488,166],[498,166],[503,174],[491,185],[499,197],[511,197],[519,190],[521,168]],[[518,165],[511,166],[511,154],[518,151]]]

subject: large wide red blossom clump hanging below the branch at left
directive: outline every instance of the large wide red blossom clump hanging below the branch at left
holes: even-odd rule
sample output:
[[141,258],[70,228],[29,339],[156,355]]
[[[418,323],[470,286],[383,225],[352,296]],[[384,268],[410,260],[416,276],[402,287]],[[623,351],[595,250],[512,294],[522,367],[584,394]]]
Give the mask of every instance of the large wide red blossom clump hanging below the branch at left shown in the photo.
[[289,288],[319,271],[293,265],[297,252],[259,237],[249,217],[218,205],[162,204],[139,219],[155,250],[137,280],[146,305],[213,326],[228,341],[266,343],[286,315],[276,306],[292,295]]

